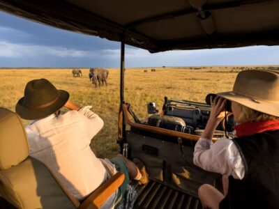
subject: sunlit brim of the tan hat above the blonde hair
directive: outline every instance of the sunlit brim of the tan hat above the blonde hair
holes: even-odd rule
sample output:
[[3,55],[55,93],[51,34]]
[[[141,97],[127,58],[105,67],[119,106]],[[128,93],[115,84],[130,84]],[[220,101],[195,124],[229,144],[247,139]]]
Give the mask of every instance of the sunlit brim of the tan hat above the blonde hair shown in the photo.
[[278,103],[267,102],[264,100],[252,100],[251,98],[248,98],[244,95],[239,95],[233,91],[217,93],[217,95],[227,100],[242,104],[243,106],[249,107],[250,109],[260,111],[264,114],[279,117]]

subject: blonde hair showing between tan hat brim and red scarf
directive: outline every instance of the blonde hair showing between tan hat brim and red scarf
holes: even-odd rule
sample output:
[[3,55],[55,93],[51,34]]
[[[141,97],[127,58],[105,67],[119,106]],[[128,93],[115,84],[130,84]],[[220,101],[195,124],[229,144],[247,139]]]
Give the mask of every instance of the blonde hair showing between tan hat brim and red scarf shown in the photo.
[[239,104],[237,102],[235,102],[235,104],[241,110],[241,114],[239,115],[239,118],[237,118],[239,123],[256,122],[256,121],[272,121],[272,120],[279,119],[276,116],[271,116],[269,114],[264,114],[255,109],[250,109],[249,107],[243,106],[242,104]]

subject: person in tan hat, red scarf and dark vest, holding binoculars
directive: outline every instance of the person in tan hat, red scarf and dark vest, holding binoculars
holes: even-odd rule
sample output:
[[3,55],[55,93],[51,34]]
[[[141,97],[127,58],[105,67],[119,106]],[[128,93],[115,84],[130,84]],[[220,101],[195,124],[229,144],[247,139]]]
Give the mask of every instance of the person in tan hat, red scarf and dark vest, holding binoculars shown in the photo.
[[[279,207],[279,72],[239,72],[232,91],[218,93],[194,163],[206,171],[223,174],[223,192],[211,185],[198,189],[206,208]],[[212,143],[223,120],[225,105],[232,102],[236,137]]]

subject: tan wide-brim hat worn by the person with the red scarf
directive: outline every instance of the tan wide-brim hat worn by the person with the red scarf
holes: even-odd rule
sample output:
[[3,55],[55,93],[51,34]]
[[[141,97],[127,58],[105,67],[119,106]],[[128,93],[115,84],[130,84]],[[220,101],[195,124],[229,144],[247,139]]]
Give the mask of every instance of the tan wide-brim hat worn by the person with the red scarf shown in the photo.
[[279,117],[279,71],[244,70],[239,72],[232,91],[218,96]]

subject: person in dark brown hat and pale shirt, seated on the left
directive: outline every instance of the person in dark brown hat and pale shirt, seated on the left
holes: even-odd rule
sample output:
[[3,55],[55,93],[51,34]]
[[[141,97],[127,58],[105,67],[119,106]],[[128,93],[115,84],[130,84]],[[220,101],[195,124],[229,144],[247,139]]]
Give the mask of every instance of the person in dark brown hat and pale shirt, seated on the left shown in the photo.
[[[146,172],[122,155],[109,160],[96,157],[90,147],[91,139],[102,129],[103,120],[90,109],[69,100],[67,91],[58,90],[47,79],[27,83],[24,97],[15,107],[21,118],[32,120],[26,127],[29,155],[47,165],[66,189],[83,200],[117,171],[125,175],[119,192],[103,205],[112,208],[123,196],[129,178],[148,183]],[[70,109],[60,114],[60,109]]]

